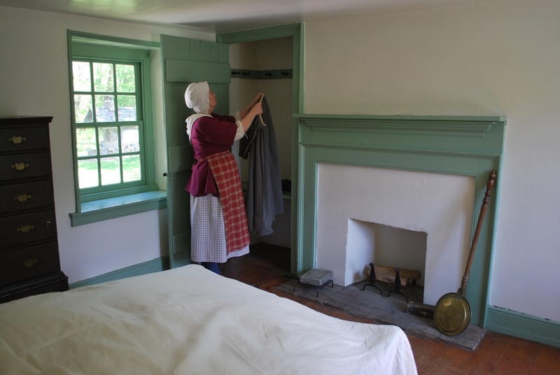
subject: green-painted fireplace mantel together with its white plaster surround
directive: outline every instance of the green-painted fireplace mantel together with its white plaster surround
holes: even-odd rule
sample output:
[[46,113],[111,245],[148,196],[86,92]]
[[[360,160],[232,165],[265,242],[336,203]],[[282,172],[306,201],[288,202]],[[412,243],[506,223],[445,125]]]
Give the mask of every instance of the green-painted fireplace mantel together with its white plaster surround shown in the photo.
[[[366,278],[369,262],[346,264],[365,256],[346,254],[349,228],[380,224],[426,234],[426,303],[455,292],[492,169],[499,187],[504,131],[504,118],[300,115],[297,273],[330,269],[341,285]],[[496,188],[466,293],[482,327],[498,196]]]

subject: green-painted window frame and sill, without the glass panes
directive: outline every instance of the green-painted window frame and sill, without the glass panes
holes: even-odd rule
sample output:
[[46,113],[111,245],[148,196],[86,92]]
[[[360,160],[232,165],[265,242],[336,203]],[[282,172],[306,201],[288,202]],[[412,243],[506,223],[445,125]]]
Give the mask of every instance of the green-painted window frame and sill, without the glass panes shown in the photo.
[[[76,150],[76,129],[89,125],[106,125],[102,122],[76,123],[71,97],[72,144],[74,160],[74,183],[76,192],[76,212],[69,213],[71,225],[85,225],[102,220],[110,220],[125,215],[133,215],[146,211],[167,207],[167,195],[159,190],[155,181],[155,146],[153,134],[152,89],[151,89],[151,50],[159,49],[160,43],[136,41],[127,38],[114,38],[87,34],[80,31],[68,31],[69,50],[69,85],[73,95],[73,61],[78,60],[106,60],[119,62],[133,62],[139,66],[137,82],[141,85],[142,95],[139,104],[137,123],[139,123],[141,152],[141,181],[135,183],[121,182],[113,187],[79,189],[78,185],[78,157]],[[76,92],[80,94],[80,92]],[[116,122],[126,126],[128,122]],[[123,154],[125,155],[125,154]],[[83,157],[81,158],[83,159]],[[121,174],[123,172],[121,171]]]

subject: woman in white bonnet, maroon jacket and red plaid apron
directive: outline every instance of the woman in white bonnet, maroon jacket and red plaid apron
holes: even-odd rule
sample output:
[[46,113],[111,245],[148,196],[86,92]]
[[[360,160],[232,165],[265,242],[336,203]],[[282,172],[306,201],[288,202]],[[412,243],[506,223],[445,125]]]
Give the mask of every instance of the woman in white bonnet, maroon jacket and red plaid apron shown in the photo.
[[249,252],[241,178],[230,149],[262,113],[261,97],[258,94],[234,118],[213,113],[216,94],[207,82],[191,83],[185,91],[185,102],[195,111],[186,120],[195,153],[185,187],[190,193],[190,258],[217,274],[218,263]]

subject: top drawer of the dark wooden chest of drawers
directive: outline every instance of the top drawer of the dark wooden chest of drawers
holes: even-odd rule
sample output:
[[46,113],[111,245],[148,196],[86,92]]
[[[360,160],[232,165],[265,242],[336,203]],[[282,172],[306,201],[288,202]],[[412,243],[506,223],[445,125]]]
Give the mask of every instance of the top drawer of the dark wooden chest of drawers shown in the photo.
[[1,127],[0,151],[49,148],[48,127]]

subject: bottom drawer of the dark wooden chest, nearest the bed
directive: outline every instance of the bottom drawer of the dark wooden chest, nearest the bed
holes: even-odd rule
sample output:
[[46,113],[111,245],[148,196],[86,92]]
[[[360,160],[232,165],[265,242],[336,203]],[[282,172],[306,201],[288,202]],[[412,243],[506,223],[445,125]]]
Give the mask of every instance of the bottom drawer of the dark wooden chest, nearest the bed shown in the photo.
[[0,253],[0,288],[60,269],[56,242]]

